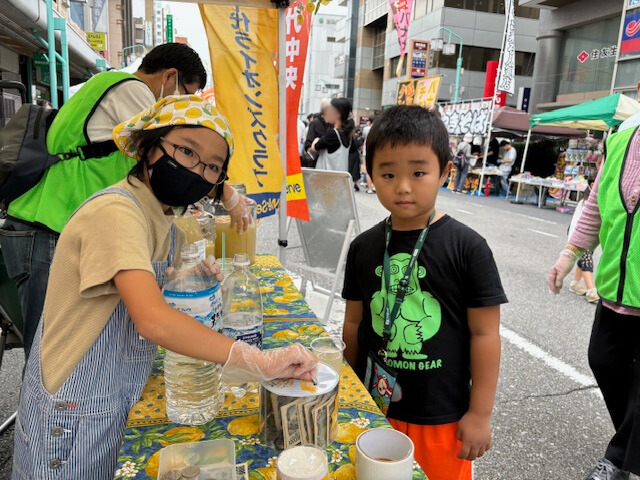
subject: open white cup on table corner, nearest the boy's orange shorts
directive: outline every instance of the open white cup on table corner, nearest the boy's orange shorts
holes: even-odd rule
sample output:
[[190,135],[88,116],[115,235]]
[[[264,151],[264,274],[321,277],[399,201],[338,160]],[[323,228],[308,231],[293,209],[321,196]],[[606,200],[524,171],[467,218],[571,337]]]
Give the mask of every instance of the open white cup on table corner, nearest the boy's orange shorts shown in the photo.
[[411,480],[413,442],[404,433],[389,428],[362,432],[356,439],[358,480]]

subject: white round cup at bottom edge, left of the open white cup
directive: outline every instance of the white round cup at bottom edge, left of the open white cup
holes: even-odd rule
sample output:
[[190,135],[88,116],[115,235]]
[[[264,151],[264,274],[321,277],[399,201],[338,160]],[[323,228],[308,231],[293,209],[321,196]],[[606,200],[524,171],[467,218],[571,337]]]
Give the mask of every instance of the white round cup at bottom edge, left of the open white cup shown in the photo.
[[282,452],[276,469],[278,480],[329,480],[326,453],[309,445]]

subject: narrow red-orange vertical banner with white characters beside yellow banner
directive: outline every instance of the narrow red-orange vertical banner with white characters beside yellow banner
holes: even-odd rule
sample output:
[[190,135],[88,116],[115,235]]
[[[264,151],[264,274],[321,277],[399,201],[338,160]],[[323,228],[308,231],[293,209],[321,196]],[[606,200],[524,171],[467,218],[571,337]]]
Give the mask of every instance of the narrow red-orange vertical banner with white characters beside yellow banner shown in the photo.
[[300,152],[298,150],[298,107],[302,92],[309,29],[312,14],[307,9],[298,11],[296,5],[287,8],[286,35],[286,93],[287,93],[287,216],[309,221],[307,195],[302,180]]

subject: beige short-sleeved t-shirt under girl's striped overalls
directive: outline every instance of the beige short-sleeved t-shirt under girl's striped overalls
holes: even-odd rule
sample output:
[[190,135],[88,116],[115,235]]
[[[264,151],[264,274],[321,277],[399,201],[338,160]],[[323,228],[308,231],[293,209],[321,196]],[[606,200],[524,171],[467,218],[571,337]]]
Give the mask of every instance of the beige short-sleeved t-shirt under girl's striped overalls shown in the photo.
[[173,217],[164,214],[140,180],[125,179],[114,186],[131,192],[141,207],[119,194],[95,198],[69,220],[56,247],[40,357],[42,380],[51,393],[89,351],[118,305],[114,276],[121,270],[153,274],[151,262],[166,260],[169,254]]

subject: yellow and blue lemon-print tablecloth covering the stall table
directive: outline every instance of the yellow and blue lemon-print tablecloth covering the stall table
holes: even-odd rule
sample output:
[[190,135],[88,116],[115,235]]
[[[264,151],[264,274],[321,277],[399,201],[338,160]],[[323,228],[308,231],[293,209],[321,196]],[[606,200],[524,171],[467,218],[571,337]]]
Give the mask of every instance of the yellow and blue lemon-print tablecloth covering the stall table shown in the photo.
[[[328,335],[277,258],[258,256],[252,269],[260,277],[263,294],[264,348],[293,341],[308,346],[312,339]],[[276,480],[278,453],[260,443],[258,394],[247,394],[241,399],[227,394],[218,416],[206,425],[173,424],[165,412],[162,359],[160,352],[141,400],[129,412],[115,478],[156,478],[160,450],[167,445],[230,438],[236,444],[237,463],[249,464],[250,479]],[[338,435],[326,452],[331,478],[353,480],[356,437],[367,428],[389,424],[346,363],[340,376],[339,402]],[[417,465],[413,478],[426,478]]]

